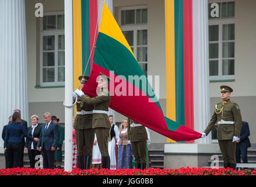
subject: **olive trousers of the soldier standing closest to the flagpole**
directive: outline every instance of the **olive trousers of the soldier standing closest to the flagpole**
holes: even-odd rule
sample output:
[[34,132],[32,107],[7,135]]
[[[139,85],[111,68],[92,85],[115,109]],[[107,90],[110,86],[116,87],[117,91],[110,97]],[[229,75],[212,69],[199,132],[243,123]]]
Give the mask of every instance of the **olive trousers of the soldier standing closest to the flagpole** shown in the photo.
[[77,156],[84,155],[84,146],[86,146],[86,155],[93,154],[94,129],[76,129]]

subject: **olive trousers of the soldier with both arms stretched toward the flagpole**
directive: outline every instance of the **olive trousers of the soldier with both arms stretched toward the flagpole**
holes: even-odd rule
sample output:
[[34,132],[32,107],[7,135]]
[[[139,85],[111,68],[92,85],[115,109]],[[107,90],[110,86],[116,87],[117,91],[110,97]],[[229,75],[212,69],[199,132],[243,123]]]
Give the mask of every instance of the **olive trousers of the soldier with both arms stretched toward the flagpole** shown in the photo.
[[98,148],[102,157],[108,157],[108,137],[110,136],[110,129],[97,127],[95,128],[95,134],[98,141]]

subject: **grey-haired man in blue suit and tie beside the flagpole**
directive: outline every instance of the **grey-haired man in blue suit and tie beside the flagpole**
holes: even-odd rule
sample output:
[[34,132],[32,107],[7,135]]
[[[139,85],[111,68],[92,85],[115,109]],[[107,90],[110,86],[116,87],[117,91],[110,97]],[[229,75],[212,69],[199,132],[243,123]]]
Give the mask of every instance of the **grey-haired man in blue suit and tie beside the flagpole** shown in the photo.
[[40,139],[37,143],[37,150],[42,151],[43,168],[54,168],[54,150],[58,141],[58,126],[52,122],[52,115],[46,112],[43,115],[45,124],[42,125]]

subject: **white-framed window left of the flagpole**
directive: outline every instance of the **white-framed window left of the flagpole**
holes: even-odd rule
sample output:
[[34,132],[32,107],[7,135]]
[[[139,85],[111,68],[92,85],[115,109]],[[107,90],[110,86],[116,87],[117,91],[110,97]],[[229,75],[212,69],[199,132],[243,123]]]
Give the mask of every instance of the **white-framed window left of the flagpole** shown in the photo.
[[40,84],[64,85],[64,14],[46,14],[41,19],[40,29]]

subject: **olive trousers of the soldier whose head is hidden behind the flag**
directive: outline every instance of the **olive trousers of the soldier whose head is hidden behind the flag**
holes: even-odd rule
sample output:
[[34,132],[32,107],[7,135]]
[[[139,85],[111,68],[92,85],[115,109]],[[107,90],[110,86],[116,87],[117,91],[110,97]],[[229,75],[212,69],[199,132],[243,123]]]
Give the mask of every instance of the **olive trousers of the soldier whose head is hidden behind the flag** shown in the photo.
[[135,163],[146,163],[146,140],[131,141]]

